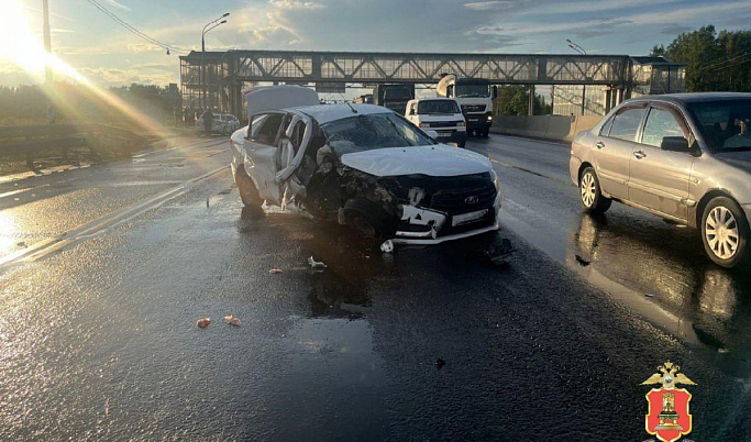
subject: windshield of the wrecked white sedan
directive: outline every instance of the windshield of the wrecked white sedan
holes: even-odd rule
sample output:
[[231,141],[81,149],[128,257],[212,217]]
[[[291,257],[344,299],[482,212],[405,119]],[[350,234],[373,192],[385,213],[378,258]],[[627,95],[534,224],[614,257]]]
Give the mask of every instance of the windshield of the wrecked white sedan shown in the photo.
[[340,152],[435,144],[410,122],[394,113],[355,115],[322,124],[329,145]]

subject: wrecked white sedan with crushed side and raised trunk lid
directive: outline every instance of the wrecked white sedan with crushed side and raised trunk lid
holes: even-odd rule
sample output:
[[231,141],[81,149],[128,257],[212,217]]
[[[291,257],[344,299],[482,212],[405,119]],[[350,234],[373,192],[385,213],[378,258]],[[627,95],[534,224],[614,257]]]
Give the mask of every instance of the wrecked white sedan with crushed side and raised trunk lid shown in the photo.
[[318,104],[301,87],[245,98],[250,124],[231,143],[246,207],[266,201],[401,244],[498,230],[498,181],[483,155],[439,144],[386,108]]

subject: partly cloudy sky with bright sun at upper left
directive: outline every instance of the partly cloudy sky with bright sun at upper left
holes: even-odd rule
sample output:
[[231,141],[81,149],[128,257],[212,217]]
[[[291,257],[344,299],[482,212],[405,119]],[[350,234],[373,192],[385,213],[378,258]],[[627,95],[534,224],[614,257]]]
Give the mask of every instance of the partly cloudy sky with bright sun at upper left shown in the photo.
[[[207,51],[230,48],[452,53],[644,55],[681,32],[714,24],[751,27],[751,0],[97,0],[150,36],[200,49],[201,29],[224,12],[228,23],[207,34]],[[18,3],[20,8],[5,4]],[[178,54],[126,32],[88,0],[49,0],[53,52],[101,86],[179,82]],[[29,32],[7,32],[3,45],[27,35],[42,41],[42,0],[0,0],[5,18]],[[0,16],[0,20],[2,18]],[[7,27],[7,26],[4,26]],[[9,43],[10,40],[10,43]],[[18,42],[16,42],[18,43]],[[37,82],[0,48],[0,85]]]

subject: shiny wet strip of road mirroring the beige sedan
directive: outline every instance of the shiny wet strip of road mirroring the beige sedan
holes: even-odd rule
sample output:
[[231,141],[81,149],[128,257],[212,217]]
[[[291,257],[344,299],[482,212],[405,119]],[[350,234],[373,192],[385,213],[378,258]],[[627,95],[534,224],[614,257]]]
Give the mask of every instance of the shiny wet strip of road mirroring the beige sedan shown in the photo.
[[726,373],[751,373],[750,272],[715,266],[695,232],[621,213],[582,213],[571,232],[508,212],[501,224]]

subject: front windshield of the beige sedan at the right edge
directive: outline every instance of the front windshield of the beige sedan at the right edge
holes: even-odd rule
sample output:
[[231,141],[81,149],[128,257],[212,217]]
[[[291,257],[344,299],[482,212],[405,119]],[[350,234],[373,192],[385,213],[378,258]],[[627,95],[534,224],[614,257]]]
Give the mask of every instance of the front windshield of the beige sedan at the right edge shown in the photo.
[[751,150],[751,100],[717,100],[687,104],[711,151]]

